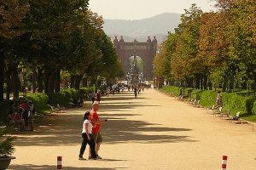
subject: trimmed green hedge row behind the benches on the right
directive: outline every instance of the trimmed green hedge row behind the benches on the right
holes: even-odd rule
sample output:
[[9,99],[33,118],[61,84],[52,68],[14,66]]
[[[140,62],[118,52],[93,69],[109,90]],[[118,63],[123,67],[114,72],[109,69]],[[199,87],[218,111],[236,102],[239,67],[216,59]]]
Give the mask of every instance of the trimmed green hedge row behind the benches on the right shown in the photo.
[[[168,94],[179,95],[181,88],[166,86],[162,90]],[[200,100],[201,105],[204,107],[211,107],[215,105],[217,92],[211,90],[197,90],[193,88],[185,88],[184,95],[189,98]],[[227,94],[222,93],[223,96],[223,105],[224,111],[230,109],[232,114],[235,114],[237,111],[240,111],[241,114],[256,114],[256,99],[243,97],[239,94]]]

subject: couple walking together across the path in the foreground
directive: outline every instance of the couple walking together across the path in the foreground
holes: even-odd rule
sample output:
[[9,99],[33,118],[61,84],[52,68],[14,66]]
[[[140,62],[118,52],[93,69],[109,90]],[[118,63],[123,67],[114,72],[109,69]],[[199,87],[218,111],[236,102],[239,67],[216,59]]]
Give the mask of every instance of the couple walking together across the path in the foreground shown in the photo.
[[108,119],[100,120],[97,111],[99,111],[99,102],[95,101],[92,104],[91,111],[84,113],[82,127],[83,142],[79,152],[79,160],[86,160],[84,158],[84,151],[87,144],[90,145],[88,158],[92,160],[102,159],[102,157],[98,155],[102,144],[101,124],[107,122]]

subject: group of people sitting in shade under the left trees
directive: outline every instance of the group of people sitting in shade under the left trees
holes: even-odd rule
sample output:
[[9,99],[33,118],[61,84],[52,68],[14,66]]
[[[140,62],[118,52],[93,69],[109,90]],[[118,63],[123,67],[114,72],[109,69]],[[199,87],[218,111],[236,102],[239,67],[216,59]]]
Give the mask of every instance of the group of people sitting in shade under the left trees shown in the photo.
[[35,112],[32,101],[26,102],[24,100],[18,106],[15,106],[15,103],[12,102],[8,111],[9,124],[20,125],[20,131],[33,131]]

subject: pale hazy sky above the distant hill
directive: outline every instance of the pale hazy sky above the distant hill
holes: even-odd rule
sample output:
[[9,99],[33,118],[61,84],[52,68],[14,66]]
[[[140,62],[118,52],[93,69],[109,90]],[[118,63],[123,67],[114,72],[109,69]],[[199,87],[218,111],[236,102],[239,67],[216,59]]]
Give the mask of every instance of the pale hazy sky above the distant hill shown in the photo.
[[90,0],[90,8],[104,19],[138,20],[162,13],[183,14],[196,3],[203,11],[214,9],[214,0]]

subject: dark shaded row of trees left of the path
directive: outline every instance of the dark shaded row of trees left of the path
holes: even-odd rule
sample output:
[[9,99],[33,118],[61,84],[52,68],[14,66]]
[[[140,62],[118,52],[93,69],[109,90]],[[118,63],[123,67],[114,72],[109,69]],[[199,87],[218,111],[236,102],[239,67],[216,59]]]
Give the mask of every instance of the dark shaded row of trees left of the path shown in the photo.
[[71,88],[79,88],[83,78],[121,76],[102,17],[88,5],[89,0],[0,1],[0,101],[4,87],[8,99],[10,93],[19,97],[20,73],[26,79],[32,72],[32,89],[49,94],[60,91],[61,72],[70,76]]

